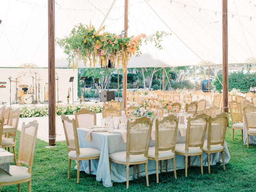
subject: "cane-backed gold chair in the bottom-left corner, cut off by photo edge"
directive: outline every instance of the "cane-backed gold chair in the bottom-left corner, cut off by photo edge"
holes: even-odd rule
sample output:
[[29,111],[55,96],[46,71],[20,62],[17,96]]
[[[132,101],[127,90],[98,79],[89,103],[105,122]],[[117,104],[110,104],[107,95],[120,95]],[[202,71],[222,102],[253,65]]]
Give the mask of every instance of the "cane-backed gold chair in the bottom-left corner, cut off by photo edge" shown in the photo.
[[[21,183],[28,182],[28,192],[31,192],[31,170],[36,148],[37,129],[36,120],[26,125],[22,124],[17,166],[10,166],[12,175],[0,169],[0,188],[4,185],[18,184],[18,191],[20,192]],[[27,167],[22,167],[22,164]]]

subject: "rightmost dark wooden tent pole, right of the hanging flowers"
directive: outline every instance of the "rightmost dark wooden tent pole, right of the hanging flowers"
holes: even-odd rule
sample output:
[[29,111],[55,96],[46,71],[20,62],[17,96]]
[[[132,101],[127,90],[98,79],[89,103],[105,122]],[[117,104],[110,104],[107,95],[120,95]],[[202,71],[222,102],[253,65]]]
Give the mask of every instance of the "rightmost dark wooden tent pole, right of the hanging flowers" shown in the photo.
[[228,0],[222,0],[223,111],[228,113]]

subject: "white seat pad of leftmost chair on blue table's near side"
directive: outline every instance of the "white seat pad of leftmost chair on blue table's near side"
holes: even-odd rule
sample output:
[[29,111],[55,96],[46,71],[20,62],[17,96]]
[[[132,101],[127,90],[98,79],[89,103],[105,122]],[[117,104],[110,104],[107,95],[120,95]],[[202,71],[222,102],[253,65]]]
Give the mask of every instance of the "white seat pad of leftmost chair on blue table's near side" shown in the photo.
[[[112,153],[112,154],[109,155],[109,157],[113,160],[116,160],[116,161],[126,162],[126,151],[120,151],[120,152]],[[130,155],[130,163],[146,161],[146,160],[147,159],[144,156],[144,154]]]

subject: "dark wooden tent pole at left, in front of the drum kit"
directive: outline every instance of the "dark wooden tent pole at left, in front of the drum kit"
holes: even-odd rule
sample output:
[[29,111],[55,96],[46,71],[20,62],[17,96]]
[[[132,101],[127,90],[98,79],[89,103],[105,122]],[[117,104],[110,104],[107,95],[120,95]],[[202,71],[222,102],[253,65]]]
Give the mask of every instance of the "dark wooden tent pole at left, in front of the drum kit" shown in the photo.
[[54,0],[48,0],[49,146],[56,145]]

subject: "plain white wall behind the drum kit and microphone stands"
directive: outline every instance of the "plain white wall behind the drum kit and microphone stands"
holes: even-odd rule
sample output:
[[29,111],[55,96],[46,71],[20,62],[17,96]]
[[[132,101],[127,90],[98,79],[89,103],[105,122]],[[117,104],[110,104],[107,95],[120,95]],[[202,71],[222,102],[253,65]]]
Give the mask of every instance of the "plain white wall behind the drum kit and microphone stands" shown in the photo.
[[[45,99],[45,91],[44,89],[47,89],[48,83],[48,69],[23,69],[23,68],[0,68],[0,82],[7,82],[6,88],[0,88],[0,102],[10,102],[10,81],[9,77],[12,77],[12,80],[15,78],[22,76],[18,78],[17,85],[20,84],[27,84],[28,88],[32,87],[32,76],[35,77],[35,72],[37,72],[37,79],[40,79],[37,81],[37,86],[40,84],[39,88],[39,96],[40,101],[44,101]],[[70,77],[74,77],[73,81],[73,95],[74,95],[74,101],[77,100],[77,69],[55,69],[55,72],[59,76],[59,101],[67,102],[67,95],[68,95],[68,88],[71,87],[72,89],[72,83],[69,83]],[[25,75],[24,75],[25,74]],[[24,76],[23,76],[24,75]],[[56,74],[55,74],[56,76]],[[57,76],[56,76],[57,78]],[[57,80],[56,82],[56,102],[57,102]],[[35,86],[35,80],[34,80],[34,86]],[[15,100],[15,83],[12,82],[11,85],[12,88],[12,95],[11,99],[12,101]],[[17,87],[18,90],[22,90],[19,86]],[[36,91],[36,87],[34,89]],[[36,94],[34,95],[34,98],[36,98]],[[38,88],[37,88],[37,100],[38,100]],[[72,103],[72,92],[70,92],[70,103]]]

